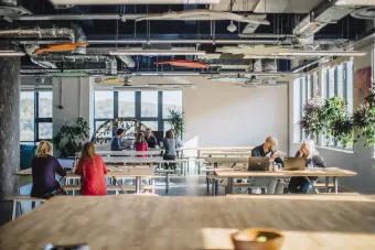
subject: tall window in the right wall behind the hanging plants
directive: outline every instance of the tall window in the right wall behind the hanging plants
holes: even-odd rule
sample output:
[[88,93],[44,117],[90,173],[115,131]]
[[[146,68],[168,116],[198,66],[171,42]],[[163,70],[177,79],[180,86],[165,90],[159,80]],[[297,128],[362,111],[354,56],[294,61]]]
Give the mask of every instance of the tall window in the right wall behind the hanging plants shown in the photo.
[[[313,73],[294,80],[293,98],[294,105],[294,141],[306,139],[306,133],[302,131],[298,121],[303,116],[304,104],[313,96],[319,95],[323,98],[342,97],[347,102],[347,111],[353,112],[353,62],[349,61],[344,64],[321,69],[321,80],[319,74]],[[322,84],[320,84],[322,83]],[[343,146],[333,139],[323,137],[315,138],[318,145],[343,149]]]

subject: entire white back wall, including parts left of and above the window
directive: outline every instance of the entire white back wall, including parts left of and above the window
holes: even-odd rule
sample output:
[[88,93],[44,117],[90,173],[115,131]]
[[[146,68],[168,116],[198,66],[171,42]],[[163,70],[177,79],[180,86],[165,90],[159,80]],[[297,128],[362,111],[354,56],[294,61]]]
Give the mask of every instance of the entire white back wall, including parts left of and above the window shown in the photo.
[[[93,80],[94,78],[92,78]],[[82,78],[81,94],[77,77],[62,78],[63,106],[60,105],[60,78],[54,78],[54,133],[67,120],[79,116],[93,120],[93,87]],[[185,113],[185,145],[251,146],[259,145],[268,135],[279,140],[279,149],[288,151],[288,91],[287,86],[270,88],[240,88],[229,83],[210,81],[203,77],[138,77],[137,84],[195,84],[183,90]],[[81,96],[81,105],[79,105]],[[92,113],[92,115],[90,115]]]

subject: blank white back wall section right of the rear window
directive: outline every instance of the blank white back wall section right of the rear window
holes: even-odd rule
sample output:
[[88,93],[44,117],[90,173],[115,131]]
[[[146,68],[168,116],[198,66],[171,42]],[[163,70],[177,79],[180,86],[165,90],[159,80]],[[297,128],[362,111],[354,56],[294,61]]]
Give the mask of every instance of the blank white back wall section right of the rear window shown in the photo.
[[205,78],[183,90],[185,139],[200,146],[259,145],[268,135],[288,150],[288,91],[283,87],[240,88]]

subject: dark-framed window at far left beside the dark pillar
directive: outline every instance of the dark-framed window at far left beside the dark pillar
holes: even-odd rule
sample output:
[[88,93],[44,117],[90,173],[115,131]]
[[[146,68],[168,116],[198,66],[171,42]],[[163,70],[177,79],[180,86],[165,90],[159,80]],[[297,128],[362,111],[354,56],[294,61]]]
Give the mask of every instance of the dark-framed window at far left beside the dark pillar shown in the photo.
[[20,141],[35,143],[51,140],[52,91],[22,91],[20,96]]

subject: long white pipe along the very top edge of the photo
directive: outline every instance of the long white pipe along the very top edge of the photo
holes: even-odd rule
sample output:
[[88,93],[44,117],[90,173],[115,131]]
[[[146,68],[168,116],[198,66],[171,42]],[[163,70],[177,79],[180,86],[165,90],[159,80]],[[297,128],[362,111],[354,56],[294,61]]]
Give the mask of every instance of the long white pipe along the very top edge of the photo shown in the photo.
[[50,0],[53,4],[216,4],[221,0]]

